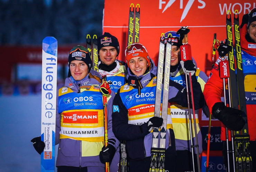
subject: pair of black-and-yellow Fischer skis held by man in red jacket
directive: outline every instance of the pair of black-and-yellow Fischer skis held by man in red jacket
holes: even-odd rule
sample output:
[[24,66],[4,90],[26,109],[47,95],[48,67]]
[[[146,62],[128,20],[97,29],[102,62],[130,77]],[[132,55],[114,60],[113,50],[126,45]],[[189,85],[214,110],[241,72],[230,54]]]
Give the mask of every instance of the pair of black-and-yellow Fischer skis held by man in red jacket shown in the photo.
[[[234,34],[235,35],[235,52],[232,49],[232,51],[228,53],[229,74],[230,74],[230,77],[229,77],[230,105],[232,108],[240,109],[241,111],[243,111],[244,115],[242,117],[245,120],[245,126],[243,127],[243,129],[241,131],[234,132],[236,170],[238,172],[242,172],[242,171],[249,172],[252,169],[252,158],[250,156],[250,151],[249,151],[250,137],[248,133],[248,122],[247,122],[247,116],[246,116],[247,111],[246,111],[246,101],[245,101],[245,87],[244,87],[243,63],[242,63],[242,56],[241,56],[238,10],[235,10],[235,14],[234,14],[234,30],[235,30],[235,34]],[[227,43],[233,46],[233,37],[232,37],[233,34],[232,34],[230,11],[227,11],[227,15],[226,15],[226,31],[227,31]],[[236,57],[236,62],[235,62],[235,57]],[[235,65],[237,70],[237,78],[236,78],[236,72],[235,72]],[[236,79],[237,79],[237,82],[236,82]],[[238,97],[237,97],[237,92],[238,92]]]

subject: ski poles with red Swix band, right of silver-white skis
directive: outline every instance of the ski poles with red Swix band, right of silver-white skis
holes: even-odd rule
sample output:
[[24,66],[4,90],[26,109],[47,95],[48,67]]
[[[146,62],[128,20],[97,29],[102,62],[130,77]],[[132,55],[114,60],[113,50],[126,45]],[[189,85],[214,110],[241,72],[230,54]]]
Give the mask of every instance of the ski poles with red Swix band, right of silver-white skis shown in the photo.
[[[187,60],[192,60],[192,55],[191,55],[191,46],[188,44],[188,33],[189,29],[186,29],[187,27],[182,27],[180,30],[183,30],[184,38],[182,40],[182,44],[180,49],[182,51],[181,53],[181,60],[182,61],[187,61]],[[179,30],[179,31],[180,31]],[[178,31],[178,32],[179,32]],[[188,115],[189,115],[189,126],[190,126],[190,140],[191,140],[191,153],[192,153],[192,161],[193,161],[193,171],[195,172],[195,164],[194,164],[194,154],[193,154],[193,149],[196,147],[196,154],[197,154],[197,163],[198,163],[198,171],[200,172],[200,159],[199,159],[199,149],[198,149],[198,138],[197,138],[197,129],[196,129],[196,120],[195,120],[195,109],[194,109],[194,97],[193,97],[193,88],[192,88],[192,78],[191,78],[191,73],[189,73],[189,80],[188,80],[188,74],[186,71],[185,73],[185,79],[186,79],[186,91],[187,91],[187,102],[188,102]],[[193,145],[193,136],[192,136],[192,117],[191,117],[191,112],[190,112],[190,99],[189,99],[189,86],[190,86],[190,92],[191,92],[191,104],[192,104],[192,110],[193,110],[193,122],[194,122],[194,133],[195,133],[195,146]]]

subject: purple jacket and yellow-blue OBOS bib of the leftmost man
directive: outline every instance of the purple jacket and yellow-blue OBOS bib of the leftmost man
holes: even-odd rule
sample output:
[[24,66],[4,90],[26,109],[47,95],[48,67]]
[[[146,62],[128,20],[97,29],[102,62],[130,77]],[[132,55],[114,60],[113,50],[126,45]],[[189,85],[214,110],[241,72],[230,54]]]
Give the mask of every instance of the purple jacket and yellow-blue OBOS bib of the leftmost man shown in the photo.
[[[73,77],[66,78],[64,87],[59,89],[55,138],[59,147],[56,166],[105,171],[105,164],[99,159],[104,145],[103,102],[99,78],[99,73],[91,70],[89,75],[79,81]],[[111,118],[114,96],[114,92],[108,96],[108,144],[117,149],[119,141],[113,135]],[[116,153],[110,165],[111,171],[118,170],[118,162],[119,153]]]

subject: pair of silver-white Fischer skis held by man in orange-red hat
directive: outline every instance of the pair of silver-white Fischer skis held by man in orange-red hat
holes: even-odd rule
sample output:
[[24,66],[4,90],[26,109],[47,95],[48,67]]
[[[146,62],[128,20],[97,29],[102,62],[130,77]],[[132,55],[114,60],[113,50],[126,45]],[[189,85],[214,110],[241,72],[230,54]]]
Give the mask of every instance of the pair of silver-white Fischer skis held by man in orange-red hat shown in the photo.
[[[149,172],[165,171],[165,139],[166,139],[170,64],[171,64],[171,50],[172,50],[171,36],[172,36],[171,34],[168,35],[168,38],[166,41],[166,51],[165,51],[164,33],[161,34],[160,43],[159,43],[154,116],[162,117],[164,123],[160,129],[160,133],[158,128],[153,128],[151,162],[150,162]],[[161,98],[162,98],[162,113],[161,113]]]

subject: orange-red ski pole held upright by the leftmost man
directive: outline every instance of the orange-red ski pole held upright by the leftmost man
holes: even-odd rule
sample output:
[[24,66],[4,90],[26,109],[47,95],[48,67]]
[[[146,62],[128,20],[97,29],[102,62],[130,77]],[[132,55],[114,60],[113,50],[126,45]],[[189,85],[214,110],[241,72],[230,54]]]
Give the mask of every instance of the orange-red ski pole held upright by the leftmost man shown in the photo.
[[[103,82],[100,86],[100,91],[103,96],[103,113],[104,113],[104,134],[105,134],[105,147],[108,146],[108,113],[107,113],[107,96],[111,93],[107,76],[103,76]],[[105,172],[109,172],[109,162],[105,163]]]

